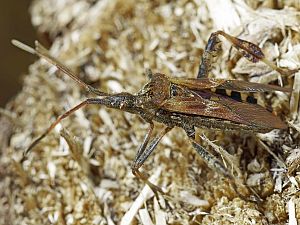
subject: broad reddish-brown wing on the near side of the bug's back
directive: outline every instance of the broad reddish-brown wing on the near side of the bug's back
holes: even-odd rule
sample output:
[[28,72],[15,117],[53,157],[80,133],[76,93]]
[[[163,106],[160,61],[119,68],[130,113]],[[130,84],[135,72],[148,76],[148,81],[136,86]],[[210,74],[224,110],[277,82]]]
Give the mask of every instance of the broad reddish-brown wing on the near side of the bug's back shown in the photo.
[[166,100],[162,108],[171,112],[219,118],[262,128],[286,128],[278,117],[260,105],[238,102],[215,93],[206,93],[208,94],[212,98],[202,98],[201,93],[192,97],[175,96]]

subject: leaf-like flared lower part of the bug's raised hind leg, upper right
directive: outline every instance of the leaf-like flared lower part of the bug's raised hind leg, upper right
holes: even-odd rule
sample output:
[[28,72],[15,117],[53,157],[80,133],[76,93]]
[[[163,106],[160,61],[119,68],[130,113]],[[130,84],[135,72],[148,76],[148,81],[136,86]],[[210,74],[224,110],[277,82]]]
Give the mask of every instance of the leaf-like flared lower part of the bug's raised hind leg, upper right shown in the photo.
[[282,75],[291,75],[299,70],[299,69],[289,70],[289,69],[279,68],[274,63],[272,63],[271,61],[266,59],[266,57],[265,57],[264,53],[262,52],[262,50],[260,49],[260,47],[258,47],[257,45],[255,45],[249,41],[245,41],[245,40],[233,37],[223,31],[217,31],[215,33],[212,33],[211,36],[217,36],[217,35],[222,35],[224,38],[226,38],[226,40],[228,40],[232,44],[233,47],[235,47],[246,59],[248,59],[249,61],[251,61],[253,63],[256,63],[259,60],[261,60],[262,62],[264,62],[265,64],[270,66],[273,70],[276,70],[277,72],[279,72]]

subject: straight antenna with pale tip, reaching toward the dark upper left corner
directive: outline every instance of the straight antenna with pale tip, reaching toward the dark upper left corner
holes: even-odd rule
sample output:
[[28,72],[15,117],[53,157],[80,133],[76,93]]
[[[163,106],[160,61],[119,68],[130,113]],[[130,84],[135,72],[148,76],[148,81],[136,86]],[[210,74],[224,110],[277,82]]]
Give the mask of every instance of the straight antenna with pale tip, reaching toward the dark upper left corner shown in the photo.
[[45,47],[43,47],[38,41],[35,41],[35,49],[17,41],[17,40],[12,40],[12,44],[24,51],[27,51],[33,55],[37,55],[40,58],[45,59],[47,62],[49,62],[50,64],[55,66],[58,70],[62,71],[63,73],[68,75],[70,78],[72,78],[75,82],[77,82],[81,87],[85,88],[88,92],[91,92],[98,96],[108,96],[109,95],[105,92],[102,92],[102,91],[92,87],[91,85],[84,83],[82,80],[80,80],[78,78],[78,76],[75,75],[68,67],[66,67],[64,64],[62,64],[57,59],[52,57],[49,54],[49,51]]

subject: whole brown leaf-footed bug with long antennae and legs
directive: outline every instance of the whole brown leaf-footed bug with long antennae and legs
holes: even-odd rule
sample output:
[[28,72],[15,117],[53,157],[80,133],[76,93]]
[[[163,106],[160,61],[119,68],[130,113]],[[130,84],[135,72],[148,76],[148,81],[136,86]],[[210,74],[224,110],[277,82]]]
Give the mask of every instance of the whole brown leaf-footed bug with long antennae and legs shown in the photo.
[[[109,94],[81,81],[67,67],[50,56],[48,51],[38,42],[35,43],[35,49],[32,49],[27,45],[13,40],[12,43],[17,47],[46,59],[49,63],[70,76],[88,92],[98,96],[97,98],[87,98],[85,101],[59,116],[57,120],[29,146],[25,154],[38,144],[62,119],[68,117],[71,113],[83,106],[99,104],[137,114],[150,124],[148,132],[137,150],[131,168],[133,174],[144,180],[154,191],[162,192],[159,187],[148,181],[147,176],[141,173],[139,168],[153,152],[162,137],[172,130],[173,127],[181,127],[186,132],[193,147],[199,155],[206,160],[209,167],[217,169],[227,177],[232,177],[216,157],[195,141],[195,127],[259,133],[266,133],[273,129],[285,129],[287,128],[286,124],[278,117],[256,104],[253,97],[242,100],[240,93],[291,92],[292,89],[240,80],[208,78],[207,76],[211,70],[213,60],[220,50],[219,35],[222,35],[231,42],[233,47],[251,62],[255,63],[261,60],[272,69],[284,75],[289,75],[297,71],[278,68],[265,58],[262,50],[257,45],[230,36],[223,31],[217,31],[213,33],[208,40],[197,78],[171,78],[160,73],[152,74],[152,72],[148,70],[147,75],[150,81],[137,94],[127,92]],[[214,89],[214,91],[212,91],[212,89]],[[231,92],[231,94],[228,94],[228,92]],[[151,139],[154,129],[153,121],[164,124],[165,128],[160,134]]]

